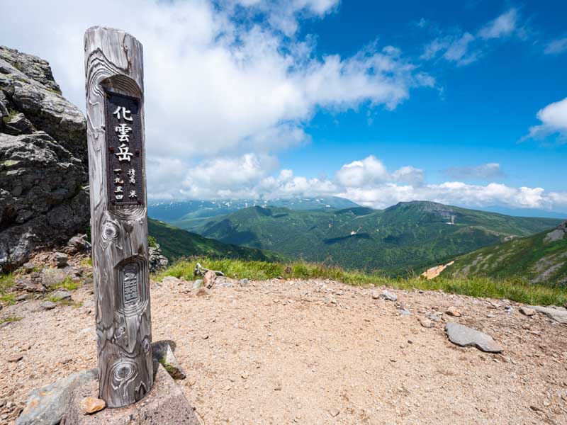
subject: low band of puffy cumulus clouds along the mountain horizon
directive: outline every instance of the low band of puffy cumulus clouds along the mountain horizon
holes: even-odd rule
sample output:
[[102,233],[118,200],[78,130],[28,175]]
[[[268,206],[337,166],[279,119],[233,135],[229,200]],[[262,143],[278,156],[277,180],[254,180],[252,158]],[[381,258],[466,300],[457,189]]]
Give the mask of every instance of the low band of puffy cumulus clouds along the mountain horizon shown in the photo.
[[[543,208],[565,210],[567,192],[547,192],[544,188],[514,188],[503,183],[485,185],[463,181],[425,183],[422,169],[403,166],[393,172],[380,159],[371,155],[344,164],[335,176],[307,178],[296,176],[291,169],[278,171],[277,160],[269,155],[245,154],[236,158],[212,159],[189,171],[175,174],[182,188],[167,188],[167,167],[156,174],[161,192],[155,198],[189,199],[274,199],[296,196],[341,196],[371,208],[386,208],[400,201],[432,200],[449,205],[482,208],[501,205],[509,208]],[[179,167],[183,169],[183,167]],[[453,174],[462,179],[501,175],[496,163],[481,166],[454,167]]]

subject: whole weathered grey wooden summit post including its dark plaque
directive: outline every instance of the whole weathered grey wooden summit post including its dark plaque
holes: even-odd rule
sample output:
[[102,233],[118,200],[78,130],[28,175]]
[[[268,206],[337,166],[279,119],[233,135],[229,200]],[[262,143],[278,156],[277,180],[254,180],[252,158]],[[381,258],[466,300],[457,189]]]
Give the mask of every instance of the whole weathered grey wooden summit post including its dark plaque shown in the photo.
[[123,407],[152,387],[142,45],[84,36],[99,397]]

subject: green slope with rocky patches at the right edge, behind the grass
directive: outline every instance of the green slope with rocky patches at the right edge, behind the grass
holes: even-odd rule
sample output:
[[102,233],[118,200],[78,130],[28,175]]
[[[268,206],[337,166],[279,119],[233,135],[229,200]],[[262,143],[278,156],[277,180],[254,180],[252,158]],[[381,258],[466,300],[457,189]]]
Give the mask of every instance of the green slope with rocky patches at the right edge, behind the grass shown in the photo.
[[551,231],[460,256],[441,274],[522,278],[531,283],[567,286],[567,222]]

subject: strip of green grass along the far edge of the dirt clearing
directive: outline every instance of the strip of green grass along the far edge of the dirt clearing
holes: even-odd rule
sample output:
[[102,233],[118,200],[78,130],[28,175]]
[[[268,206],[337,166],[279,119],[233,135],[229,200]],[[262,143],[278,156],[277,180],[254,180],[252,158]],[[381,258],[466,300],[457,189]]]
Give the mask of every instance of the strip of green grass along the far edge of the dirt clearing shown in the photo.
[[193,269],[197,262],[203,267],[223,271],[226,276],[235,279],[266,280],[280,276],[288,279],[332,279],[348,285],[384,285],[405,290],[442,290],[445,293],[472,297],[507,298],[525,304],[564,305],[567,302],[567,288],[530,285],[520,279],[438,277],[427,280],[418,276],[389,278],[380,273],[344,270],[339,266],[306,261],[268,263],[199,257],[176,261],[172,266],[158,273],[155,278],[162,280],[165,276],[174,276],[193,280]]

